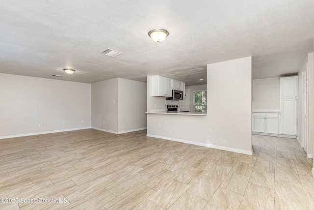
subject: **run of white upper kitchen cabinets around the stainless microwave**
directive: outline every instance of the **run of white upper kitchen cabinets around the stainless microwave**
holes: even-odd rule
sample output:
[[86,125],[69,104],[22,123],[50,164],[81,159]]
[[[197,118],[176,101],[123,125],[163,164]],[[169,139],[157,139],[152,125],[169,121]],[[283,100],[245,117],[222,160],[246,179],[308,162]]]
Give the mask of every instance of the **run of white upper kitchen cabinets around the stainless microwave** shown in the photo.
[[185,83],[168,77],[152,76],[152,96],[172,97],[172,90],[185,89]]

